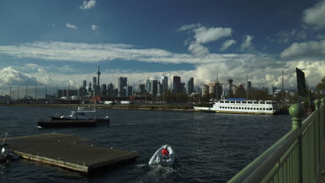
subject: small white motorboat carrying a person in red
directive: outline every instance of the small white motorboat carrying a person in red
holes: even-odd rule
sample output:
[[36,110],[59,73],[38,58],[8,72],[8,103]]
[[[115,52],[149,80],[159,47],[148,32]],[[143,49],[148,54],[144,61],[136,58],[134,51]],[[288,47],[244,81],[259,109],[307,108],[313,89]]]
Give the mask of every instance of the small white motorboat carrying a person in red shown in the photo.
[[[167,148],[169,155],[162,155],[161,150]],[[151,166],[172,166],[174,164],[175,152],[172,146],[164,145],[159,148],[155,154],[151,157],[149,165]]]

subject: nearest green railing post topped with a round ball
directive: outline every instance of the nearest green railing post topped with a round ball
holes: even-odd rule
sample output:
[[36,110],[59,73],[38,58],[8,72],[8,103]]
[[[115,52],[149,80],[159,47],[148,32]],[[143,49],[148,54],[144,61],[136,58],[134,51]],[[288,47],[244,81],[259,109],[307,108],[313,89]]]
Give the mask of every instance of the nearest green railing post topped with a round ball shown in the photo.
[[[302,117],[306,115],[306,110],[303,105],[299,103],[295,103],[294,105],[291,105],[289,108],[289,114],[292,116],[292,130],[295,130],[297,128],[301,128],[301,121]],[[299,182],[303,182],[303,148],[302,148],[302,134],[299,137]]]

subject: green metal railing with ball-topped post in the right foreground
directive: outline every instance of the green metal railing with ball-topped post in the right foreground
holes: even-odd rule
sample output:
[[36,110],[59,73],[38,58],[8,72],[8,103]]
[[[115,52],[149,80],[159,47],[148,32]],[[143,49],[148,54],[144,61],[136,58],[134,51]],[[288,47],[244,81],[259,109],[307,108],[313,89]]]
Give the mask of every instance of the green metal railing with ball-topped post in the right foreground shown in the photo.
[[251,164],[235,175],[235,182],[316,182],[320,171],[322,145],[325,135],[325,98],[316,110],[302,121],[306,112],[302,105],[290,106],[292,130]]

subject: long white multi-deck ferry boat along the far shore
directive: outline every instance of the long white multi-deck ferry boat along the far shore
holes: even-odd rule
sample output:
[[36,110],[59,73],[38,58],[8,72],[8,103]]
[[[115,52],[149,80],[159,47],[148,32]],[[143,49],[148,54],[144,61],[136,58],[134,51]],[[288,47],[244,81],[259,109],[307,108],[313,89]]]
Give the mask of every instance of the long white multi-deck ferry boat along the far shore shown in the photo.
[[198,111],[214,111],[241,114],[276,114],[276,101],[254,101],[244,98],[228,98],[215,101],[213,107],[194,107]]

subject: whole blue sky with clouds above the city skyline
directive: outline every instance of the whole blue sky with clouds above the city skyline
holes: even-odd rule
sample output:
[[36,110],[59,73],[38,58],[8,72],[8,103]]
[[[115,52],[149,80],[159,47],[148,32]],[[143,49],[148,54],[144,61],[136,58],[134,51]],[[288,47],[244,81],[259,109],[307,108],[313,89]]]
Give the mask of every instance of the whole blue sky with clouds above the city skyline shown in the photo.
[[[325,76],[325,1],[0,0],[0,90],[166,74],[194,86],[310,86]],[[136,89],[137,87],[135,87]]]

